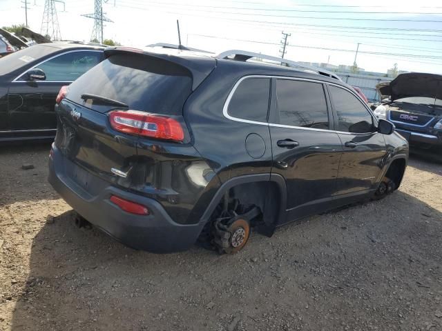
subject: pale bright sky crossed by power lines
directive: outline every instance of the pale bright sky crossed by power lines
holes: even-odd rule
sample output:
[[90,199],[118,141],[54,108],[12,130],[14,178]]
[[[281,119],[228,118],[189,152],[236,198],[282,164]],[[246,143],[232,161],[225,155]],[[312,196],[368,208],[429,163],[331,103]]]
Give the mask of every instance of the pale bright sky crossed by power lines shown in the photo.
[[[28,25],[39,32],[44,0],[28,2]],[[65,0],[66,11],[57,3],[63,39],[90,39],[93,20],[81,14],[93,13],[93,3]],[[21,6],[0,0],[0,24],[23,23]],[[113,20],[104,37],[126,46],[177,43],[180,19],[182,42],[196,48],[278,56],[284,30],[291,33],[287,59],[351,66],[361,43],[357,63],[365,70],[386,72],[398,63],[399,70],[442,74],[441,1],[108,0],[104,12]]]

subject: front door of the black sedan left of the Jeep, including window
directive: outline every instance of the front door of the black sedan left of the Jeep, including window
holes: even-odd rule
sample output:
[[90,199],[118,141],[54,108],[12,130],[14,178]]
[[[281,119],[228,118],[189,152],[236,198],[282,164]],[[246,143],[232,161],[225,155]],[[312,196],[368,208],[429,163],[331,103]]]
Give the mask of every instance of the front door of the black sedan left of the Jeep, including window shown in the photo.
[[[102,51],[71,50],[50,57],[23,72],[10,84],[8,103],[12,130],[48,130],[57,127],[55,98],[61,86],[69,85],[102,60]],[[30,70],[43,70],[46,77],[30,80]]]

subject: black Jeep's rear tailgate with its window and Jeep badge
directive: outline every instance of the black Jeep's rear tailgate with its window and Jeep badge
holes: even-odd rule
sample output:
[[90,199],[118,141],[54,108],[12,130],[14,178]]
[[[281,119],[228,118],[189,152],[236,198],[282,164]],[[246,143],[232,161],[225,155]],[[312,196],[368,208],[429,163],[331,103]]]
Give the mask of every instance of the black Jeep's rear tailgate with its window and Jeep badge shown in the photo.
[[[137,140],[142,132],[158,145],[161,141],[190,141],[182,108],[192,92],[191,70],[146,53],[113,50],[107,56],[68,88],[56,108],[55,146],[72,161],[70,164],[78,165],[65,171],[84,188],[90,173],[128,188],[135,176],[131,170],[138,161]],[[126,114],[130,116],[126,118]],[[132,121],[132,116],[153,120],[146,121],[145,128],[135,128],[139,122]],[[182,139],[155,137],[153,133],[162,128],[162,121],[180,123]],[[88,188],[93,193],[91,190]]]

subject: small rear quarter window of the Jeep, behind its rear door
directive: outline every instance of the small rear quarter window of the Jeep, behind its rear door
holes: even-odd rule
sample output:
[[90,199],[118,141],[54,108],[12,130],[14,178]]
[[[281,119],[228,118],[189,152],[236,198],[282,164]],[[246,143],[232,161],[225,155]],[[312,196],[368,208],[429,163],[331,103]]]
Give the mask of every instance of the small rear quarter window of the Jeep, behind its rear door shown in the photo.
[[238,119],[267,122],[269,97],[269,78],[244,79],[229,102],[229,115]]

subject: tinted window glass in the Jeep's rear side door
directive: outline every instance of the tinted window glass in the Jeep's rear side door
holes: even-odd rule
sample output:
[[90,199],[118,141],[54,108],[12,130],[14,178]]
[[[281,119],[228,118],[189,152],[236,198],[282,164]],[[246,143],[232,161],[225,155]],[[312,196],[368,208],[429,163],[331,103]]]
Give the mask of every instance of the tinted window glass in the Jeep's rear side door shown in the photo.
[[329,129],[323,85],[290,79],[276,80],[279,124]]

